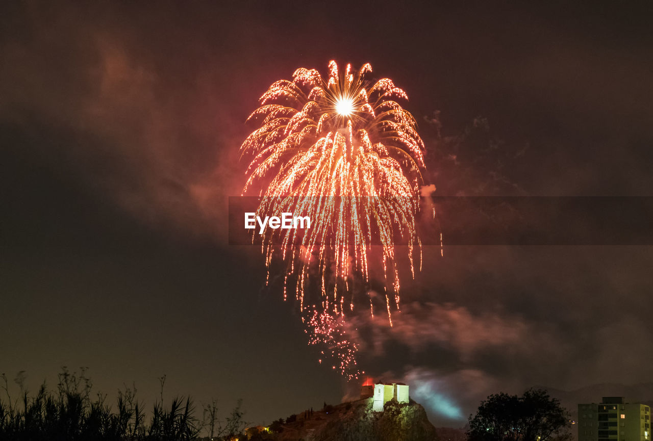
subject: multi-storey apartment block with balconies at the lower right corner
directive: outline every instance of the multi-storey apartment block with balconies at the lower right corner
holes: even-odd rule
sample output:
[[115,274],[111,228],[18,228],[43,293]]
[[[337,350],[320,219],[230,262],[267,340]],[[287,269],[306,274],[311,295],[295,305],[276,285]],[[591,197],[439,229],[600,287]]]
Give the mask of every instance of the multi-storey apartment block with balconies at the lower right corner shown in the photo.
[[601,403],[578,405],[579,441],[651,441],[650,408],[603,397]]

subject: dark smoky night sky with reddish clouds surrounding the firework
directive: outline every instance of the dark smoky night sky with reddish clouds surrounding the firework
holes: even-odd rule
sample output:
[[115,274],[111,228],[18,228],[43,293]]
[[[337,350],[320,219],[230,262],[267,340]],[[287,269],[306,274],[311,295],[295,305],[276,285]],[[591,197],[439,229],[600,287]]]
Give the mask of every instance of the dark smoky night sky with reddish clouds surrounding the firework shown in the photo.
[[[3,3],[0,372],[34,391],[88,367],[146,403],[165,374],[165,399],[243,399],[252,423],[357,393],[227,245],[247,115],[298,67],[406,90],[436,196],[652,196],[649,2],[451,3]],[[425,247],[395,326],[353,320],[360,367],[453,427],[490,393],[650,382],[652,267],[646,246]]]

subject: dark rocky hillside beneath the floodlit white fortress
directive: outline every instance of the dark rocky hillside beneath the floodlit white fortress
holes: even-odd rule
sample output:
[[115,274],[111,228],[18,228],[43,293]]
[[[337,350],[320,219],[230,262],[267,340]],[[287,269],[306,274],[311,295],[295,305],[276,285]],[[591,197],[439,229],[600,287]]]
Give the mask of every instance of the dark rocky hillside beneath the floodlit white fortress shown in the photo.
[[[274,425],[273,425],[274,427]],[[372,399],[304,412],[295,421],[276,425],[268,439],[277,441],[435,441],[436,429],[420,405],[389,401],[372,412]]]

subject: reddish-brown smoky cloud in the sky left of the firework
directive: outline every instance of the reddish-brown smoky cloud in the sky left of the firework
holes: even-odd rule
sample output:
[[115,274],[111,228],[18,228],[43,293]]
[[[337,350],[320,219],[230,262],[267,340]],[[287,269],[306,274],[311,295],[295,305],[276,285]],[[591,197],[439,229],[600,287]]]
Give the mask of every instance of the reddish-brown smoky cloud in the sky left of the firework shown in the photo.
[[76,142],[39,154],[144,222],[221,235],[215,207],[238,192],[246,117],[224,100],[223,70],[217,60],[171,69],[183,61],[151,50],[146,29],[118,26],[125,11],[99,9],[25,4],[18,16],[29,31],[3,44],[0,112],[24,130],[42,121],[74,133]]

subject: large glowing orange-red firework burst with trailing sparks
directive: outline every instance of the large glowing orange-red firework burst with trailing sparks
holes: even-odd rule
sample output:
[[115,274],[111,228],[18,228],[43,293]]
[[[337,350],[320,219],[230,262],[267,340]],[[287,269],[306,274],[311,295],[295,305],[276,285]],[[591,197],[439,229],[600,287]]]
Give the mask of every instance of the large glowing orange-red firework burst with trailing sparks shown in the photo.
[[[397,235],[407,244],[413,276],[413,254],[421,250],[415,215],[424,144],[415,119],[396,101],[406,93],[389,78],[368,80],[371,72],[369,64],[340,72],[331,61],[325,80],[317,70],[298,68],[292,80],[263,94],[248,119],[260,128],[241,146],[251,158],[243,194],[258,193],[259,211],[302,213],[313,221],[304,234],[266,229],[262,251],[268,280],[275,256],[288,262],[284,297],[294,285],[311,342],[326,342],[343,373],[355,366],[356,348],[342,326],[355,307],[351,285],[357,275],[370,283],[373,244],[380,245],[390,324],[400,305]],[[311,287],[319,292],[312,304]]]

